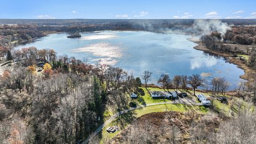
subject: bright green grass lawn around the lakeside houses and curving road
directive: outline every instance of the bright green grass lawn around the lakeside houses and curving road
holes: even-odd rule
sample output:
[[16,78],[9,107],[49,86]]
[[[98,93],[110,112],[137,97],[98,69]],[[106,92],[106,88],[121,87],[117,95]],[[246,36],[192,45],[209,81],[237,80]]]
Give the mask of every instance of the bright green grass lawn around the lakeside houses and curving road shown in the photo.
[[[145,87],[141,87],[141,89],[145,92],[145,95],[139,96],[138,99],[131,99],[131,101],[137,102],[138,105],[142,105],[142,102],[144,102],[146,104],[149,104],[149,103],[170,101],[170,100],[167,100],[167,99],[165,99],[165,100],[164,99],[152,99],[150,94],[145,89]],[[164,91],[163,89],[152,88],[152,87],[149,87],[148,90],[149,91]],[[173,90],[169,90],[169,91],[173,91]],[[193,91],[188,91],[188,92],[193,93]],[[196,92],[196,93],[202,93],[202,92]],[[206,97],[210,98],[211,94],[209,94],[209,93],[203,93],[203,94]],[[129,97],[129,96],[130,95],[127,95],[127,97]],[[189,97],[194,97],[194,96],[189,95]],[[226,95],[226,97],[230,97],[230,96]],[[229,110],[230,110],[229,105],[221,103],[217,99],[214,100],[213,105],[214,105],[215,108],[217,108],[218,110],[220,110],[221,112],[223,112],[227,116],[229,116]],[[207,114],[209,112],[209,108],[205,108],[204,106],[193,106],[193,108],[194,108],[194,110],[197,111],[197,113],[200,113],[200,114]],[[149,114],[149,113],[155,113],[155,112],[162,112],[162,111],[187,112],[188,110],[190,110],[190,108],[188,106],[184,105],[184,104],[166,104],[166,105],[148,106],[148,107],[136,109],[133,112],[134,112],[134,117],[138,118],[142,115]],[[108,119],[110,117],[110,115],[113,115],[111,110],[109,110],[108,112],[105,111],[104,117],[106,117],[106,118],[104,119],[104,121],[106,121],[106,119]],[[110,124],[103,127],[101,143],[103,142],[103,139],[106,139],[106,138],[111,139],[111,138],[115,137],[115,135],[117,135],[118,133],[120,133],[122,131],[122,130],[119,130],[119,131],[116,131],[115,133],[108,133],[106,131],[106,128],[109,127],[109,126],[113,126],[113,125],[118,125],[118,124],[116,123],[116,121],[113,121]],[[126,123],[125,125],[129,125],[129,123]]]

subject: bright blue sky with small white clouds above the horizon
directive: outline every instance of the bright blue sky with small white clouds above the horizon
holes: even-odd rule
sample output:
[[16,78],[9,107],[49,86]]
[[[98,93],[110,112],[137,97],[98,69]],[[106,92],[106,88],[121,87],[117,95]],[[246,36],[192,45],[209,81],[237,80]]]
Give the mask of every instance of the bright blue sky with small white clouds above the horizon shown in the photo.
[[256,18],[255,0],[0,0],[1,19]]

